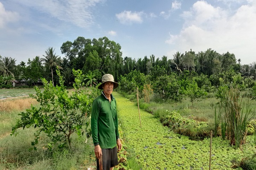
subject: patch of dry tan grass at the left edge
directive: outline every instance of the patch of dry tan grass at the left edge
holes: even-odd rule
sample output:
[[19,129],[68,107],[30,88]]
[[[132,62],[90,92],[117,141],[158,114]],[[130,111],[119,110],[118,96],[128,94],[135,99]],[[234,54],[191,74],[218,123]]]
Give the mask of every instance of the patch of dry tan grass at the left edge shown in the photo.
[[22,99],[5,99],[0,101],[0,112],[20,111],[26,108],[30,108],[31,104],[37,104],[38,102],[32,98]]

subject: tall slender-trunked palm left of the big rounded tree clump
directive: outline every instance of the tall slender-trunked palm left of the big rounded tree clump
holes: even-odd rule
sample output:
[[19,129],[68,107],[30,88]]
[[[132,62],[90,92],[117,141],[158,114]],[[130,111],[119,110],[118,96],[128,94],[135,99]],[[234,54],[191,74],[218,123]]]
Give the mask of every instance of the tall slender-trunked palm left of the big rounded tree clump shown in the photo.
[[[46,66],[48,66],[51,71],[52,68],[55,68],[58,66],[59,69],[62,69],[62,67],[60,66],[61,63],[61,58],[59,56],[56,56],[56,53],[54,53],[54,50],[52,47],[48,48],[47,51],[45,51],[46,55],[43,55],[45,57],[45,59],[42,59],[45,63]],[[52,71],[52,84],[54,86],[54,81],[53,81],[53,71]]]

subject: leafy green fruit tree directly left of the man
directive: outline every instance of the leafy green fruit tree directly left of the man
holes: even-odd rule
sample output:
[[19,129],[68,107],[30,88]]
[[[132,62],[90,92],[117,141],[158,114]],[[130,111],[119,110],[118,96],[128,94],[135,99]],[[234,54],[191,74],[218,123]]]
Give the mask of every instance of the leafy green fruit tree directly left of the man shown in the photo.
[[[75,71],[75,83],[73,87],[75,91],[69,95],[65,89],[63,77],[60,71],[57,70],[59,77],[59,86],[53,86],[53,83],[42,79],[44,83],[44,91],[35,87],[36,94],[30,95],[35,98],[40,107],[31,106],[26,112],[22,112],[16,125],[12,127],[12,135],[16,134],[18,128],[35,127],[35,145],[40,139],[40,133],[44,132],[50,138],[48,148],[58,145],[59,148],[71,147],[71,134],[77,133],[83,135],[86,133],[90,136],[90,111],[93,102],[93,97],[87,94],[84,90],[84,75],[80,70]],[[82,128],[82,126],[84,126]],[[84,130],[83,130],[84,129]]]

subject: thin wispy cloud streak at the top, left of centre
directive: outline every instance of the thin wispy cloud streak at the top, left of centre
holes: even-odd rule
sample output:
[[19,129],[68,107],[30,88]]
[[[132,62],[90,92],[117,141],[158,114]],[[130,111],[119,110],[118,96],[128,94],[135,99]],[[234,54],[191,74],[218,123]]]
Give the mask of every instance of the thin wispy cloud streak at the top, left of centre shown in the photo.
[[100,2],[102,0],[22,0],[19,3],[58,20],[87,28],[94,24],[92,7]]

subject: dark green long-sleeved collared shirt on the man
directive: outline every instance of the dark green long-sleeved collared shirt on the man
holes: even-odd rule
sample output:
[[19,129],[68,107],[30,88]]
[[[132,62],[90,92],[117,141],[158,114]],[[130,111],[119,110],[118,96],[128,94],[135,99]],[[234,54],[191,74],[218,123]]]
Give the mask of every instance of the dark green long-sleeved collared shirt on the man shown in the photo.
[[109,149],[116,146],[119,138],[116,99],[111,94],[111,102],[102,94],[93,101],[91,130],[94,146]]

